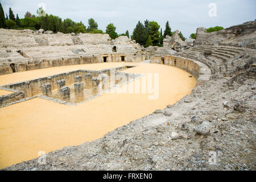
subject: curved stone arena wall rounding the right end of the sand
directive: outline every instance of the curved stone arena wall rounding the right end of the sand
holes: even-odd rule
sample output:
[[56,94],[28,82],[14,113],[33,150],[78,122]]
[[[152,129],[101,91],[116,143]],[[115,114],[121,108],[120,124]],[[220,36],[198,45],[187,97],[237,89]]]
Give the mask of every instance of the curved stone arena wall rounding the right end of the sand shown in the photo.
[[207,67],[207,65],[201,63],[200,61],[191,60],[180,56],[164,55],[155,56],[151,60],[151,63],[165,64],[183,69],[197,78],[197,85],[203,84],[203,82],[210,80],[210,69]]

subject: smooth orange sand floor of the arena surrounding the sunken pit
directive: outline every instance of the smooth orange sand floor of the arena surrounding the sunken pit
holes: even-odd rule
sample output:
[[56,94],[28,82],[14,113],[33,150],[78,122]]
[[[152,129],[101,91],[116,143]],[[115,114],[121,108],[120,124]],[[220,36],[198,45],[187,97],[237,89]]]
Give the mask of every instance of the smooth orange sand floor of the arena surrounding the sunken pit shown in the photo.
[[[14,73],[0,76],[0,85],[77,68],[103,69],[118,65],[122,63],[75,65]],[[39,151],[47,153],[101,138],[117,127],[174,104],[190,94],[196,86],[196,78],[189,78],[189,73],[166,65],[140,64],[125,72],[159,73],[159,98],[148,100],[151,95],[148,93],[106,93],[77,106],[35,98],[0,109],[0,168],[37,158]]]

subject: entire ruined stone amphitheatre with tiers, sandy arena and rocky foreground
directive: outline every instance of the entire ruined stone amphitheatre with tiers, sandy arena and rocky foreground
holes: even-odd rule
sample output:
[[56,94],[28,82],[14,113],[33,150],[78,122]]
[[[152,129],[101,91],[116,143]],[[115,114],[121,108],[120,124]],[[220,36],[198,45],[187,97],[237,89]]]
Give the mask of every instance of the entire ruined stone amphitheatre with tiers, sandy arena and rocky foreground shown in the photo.
[[178,32],[0,29],[0,168],[255,170],[256,20]]

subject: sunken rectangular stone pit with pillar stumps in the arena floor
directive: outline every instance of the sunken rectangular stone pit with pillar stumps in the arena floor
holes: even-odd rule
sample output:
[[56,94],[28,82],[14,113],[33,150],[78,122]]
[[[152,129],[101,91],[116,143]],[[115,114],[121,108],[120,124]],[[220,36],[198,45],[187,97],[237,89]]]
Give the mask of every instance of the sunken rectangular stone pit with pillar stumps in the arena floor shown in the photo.
[[4,85],[1,89],[13,93],[0,96],[0,107],[35,97],[67,105],[89,101],[100,96],[101,93],[107,93],[118,86],[143,76],[137,73],[120,72],[132,67],[134,66],[123,65],[116,68],[102,69],[101,71],[79,69]]

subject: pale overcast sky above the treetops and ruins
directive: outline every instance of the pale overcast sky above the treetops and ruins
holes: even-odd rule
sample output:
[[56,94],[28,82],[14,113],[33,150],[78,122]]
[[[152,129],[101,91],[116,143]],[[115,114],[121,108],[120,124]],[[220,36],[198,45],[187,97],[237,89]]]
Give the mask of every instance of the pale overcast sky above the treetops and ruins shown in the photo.
[[[172,31],[180,30],[186,38],[197,27],[230,26],[256,19],[255,0],[1,0],[5,14],[9,7],[24,18],[27,11],[36,15],[39,3],[46,5],[46,13],[82,21],[85,26],[93,18],[98,28],[105,31],[114,23],[117,33],[133,32],[139,20],[154,20],[164,31],[167,20]],[[216,3],[217,16],[209,16],[209,4]],[[160,31],[160,29],[159,29]]]

